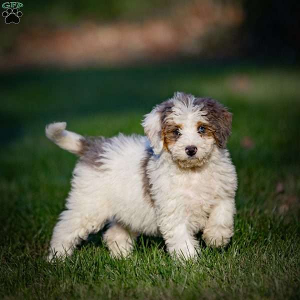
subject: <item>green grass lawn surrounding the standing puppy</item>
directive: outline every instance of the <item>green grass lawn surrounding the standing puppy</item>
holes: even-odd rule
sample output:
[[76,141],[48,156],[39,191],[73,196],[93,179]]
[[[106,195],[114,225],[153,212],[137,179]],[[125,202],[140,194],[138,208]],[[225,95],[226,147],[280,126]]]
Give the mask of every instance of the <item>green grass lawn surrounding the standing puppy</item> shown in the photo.
[[[22,71],[0,82],[1,298],[299,297],[300,68],[182,62]],[[65,262],[45,262],[75,157],[44,137],[44,125],[142,133],[142,114],[175,90],[213,96],[234,114],[228,147],[239,187],[229,246],[201,242],[199,259],[182,264],[161,239],[143,236],[130,258],[113,260],[96,234]],[[244,136],[252,147],[241,146]]]

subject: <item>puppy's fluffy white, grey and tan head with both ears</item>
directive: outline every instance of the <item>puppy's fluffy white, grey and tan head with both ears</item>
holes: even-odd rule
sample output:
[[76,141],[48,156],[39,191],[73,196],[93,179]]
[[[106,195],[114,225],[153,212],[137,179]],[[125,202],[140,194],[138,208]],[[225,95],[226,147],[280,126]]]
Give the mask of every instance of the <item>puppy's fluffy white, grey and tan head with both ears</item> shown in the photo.
[[168,151],[180,167],[201,166],[215,146],[225,148],[231,113],[211,98],[176,92],[142,122],[155,154]]

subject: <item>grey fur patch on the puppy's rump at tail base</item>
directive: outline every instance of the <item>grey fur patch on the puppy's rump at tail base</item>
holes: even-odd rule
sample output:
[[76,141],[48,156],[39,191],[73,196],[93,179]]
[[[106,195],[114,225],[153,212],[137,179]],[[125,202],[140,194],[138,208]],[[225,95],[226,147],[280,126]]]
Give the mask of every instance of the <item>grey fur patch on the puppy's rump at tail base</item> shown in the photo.
[[103,165],[103,162],[99,161],[99,159],[101,158],[101,154],[105,152],[103,145],[106,143],[110,143],[110,139],[103,136],[81,139],[82,148],[79,153],[79,160],[89,166]]

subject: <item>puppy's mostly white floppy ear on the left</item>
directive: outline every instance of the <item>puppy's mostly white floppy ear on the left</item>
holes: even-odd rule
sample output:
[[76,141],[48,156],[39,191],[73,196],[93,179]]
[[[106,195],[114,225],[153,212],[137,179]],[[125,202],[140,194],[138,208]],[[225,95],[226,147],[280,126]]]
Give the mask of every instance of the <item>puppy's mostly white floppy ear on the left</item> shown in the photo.
[[154,154],[159,154],[163,148],[161,136],[161,105],[156,105],[151,112],[145,114],[142,121],[145,135],[150,141]]

